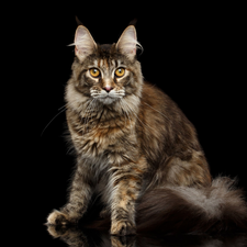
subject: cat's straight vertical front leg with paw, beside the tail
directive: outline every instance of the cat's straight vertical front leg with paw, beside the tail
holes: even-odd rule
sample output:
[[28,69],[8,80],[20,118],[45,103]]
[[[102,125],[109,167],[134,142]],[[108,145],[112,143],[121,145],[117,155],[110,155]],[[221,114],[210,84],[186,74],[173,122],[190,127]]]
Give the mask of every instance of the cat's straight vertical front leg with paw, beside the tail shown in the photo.
[[142,188],[146,160],[139,158],[137,162],[127,162],[113,167],[113,191],[111,201],[111,234],[133,235],[135,226],[135,203]]

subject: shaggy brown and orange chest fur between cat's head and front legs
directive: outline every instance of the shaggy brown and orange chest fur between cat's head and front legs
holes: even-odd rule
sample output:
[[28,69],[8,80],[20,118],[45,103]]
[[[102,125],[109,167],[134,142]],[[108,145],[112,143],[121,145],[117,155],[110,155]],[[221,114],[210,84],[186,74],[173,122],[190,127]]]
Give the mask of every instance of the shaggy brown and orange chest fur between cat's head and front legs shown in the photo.
[[67,110],[67,123],[77,153],[87,159],[110,164],[133,159],[137,145],[135,120],[105,109],[81,116]]

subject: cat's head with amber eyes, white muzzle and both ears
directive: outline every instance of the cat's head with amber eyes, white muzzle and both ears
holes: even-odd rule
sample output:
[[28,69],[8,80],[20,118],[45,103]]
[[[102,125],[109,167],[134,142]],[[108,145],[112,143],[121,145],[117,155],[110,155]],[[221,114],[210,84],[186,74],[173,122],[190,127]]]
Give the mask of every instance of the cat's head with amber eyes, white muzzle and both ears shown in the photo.
[[[76,58],[68,81],[67,101],[93,99],[110,105],[120,100],[138,98],[143,77],[136,59],[136,30],[127,26],[112,45],[99,45],[88,29],[79,25],[75,35]],[[79,102],[78,102],[79,103]]]

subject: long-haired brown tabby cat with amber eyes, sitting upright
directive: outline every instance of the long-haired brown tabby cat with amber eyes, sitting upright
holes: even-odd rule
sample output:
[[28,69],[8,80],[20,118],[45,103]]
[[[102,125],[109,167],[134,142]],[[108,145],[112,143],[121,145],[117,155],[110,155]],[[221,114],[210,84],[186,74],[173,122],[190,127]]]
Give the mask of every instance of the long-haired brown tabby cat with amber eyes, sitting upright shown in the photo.
[[74,45],[65,100],[77,168],[68,203],[47,224],[77,224],[96,195],[112,235],[245,231],[243,191],[228,178],[212,179],[192,123],[144,80],[135,26],[100,45],[79,25]]

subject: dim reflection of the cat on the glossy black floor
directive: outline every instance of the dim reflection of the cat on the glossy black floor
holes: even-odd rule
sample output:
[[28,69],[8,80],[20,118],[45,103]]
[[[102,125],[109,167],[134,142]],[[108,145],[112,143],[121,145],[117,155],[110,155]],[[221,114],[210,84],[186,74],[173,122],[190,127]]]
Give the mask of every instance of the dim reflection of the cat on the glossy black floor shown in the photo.
[[137,236],[111,236],[105,231],[78,227],[48,226],[48,233],[72,247],[245,247],[246,234],[226,236],[138,234]]

